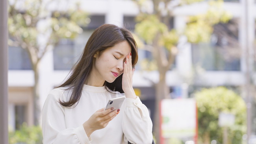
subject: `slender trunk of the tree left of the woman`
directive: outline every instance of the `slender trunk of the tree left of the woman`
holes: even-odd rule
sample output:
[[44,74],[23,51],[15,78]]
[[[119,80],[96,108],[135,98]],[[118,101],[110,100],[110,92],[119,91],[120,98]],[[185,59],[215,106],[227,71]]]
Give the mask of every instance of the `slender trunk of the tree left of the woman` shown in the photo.
[[33,64],[34,71],[34,87],[33,87],[33,114],[34,114],[34,125],[39,124],[39,116],[41,113],[40,103],[39,103],[39,62]]

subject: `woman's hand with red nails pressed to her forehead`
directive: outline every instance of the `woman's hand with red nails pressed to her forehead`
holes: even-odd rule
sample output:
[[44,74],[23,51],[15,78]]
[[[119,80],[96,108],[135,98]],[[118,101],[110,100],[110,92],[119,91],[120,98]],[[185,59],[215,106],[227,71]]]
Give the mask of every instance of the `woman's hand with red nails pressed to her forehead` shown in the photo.
[[132,53],[126,56],[124,62],[124,73],[122,75],[122,89],[126,98],[136,98],[134,89],[132,87],[132,76],[134,75],[135,68],[132,68]]

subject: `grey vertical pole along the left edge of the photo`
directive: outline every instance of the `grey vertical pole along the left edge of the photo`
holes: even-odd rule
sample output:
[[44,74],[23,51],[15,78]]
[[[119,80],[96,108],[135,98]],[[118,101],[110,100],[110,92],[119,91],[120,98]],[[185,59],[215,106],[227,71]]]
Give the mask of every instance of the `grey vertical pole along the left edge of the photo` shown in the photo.
[[0,144],[8,144],[7,0],[0,0]]

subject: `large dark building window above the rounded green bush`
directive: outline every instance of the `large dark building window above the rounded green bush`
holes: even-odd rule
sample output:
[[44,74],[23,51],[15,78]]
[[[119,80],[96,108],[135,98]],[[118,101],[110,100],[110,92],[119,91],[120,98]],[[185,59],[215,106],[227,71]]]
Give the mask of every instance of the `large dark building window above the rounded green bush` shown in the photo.
[[217,24],[208,43],[192,44],[193,65],[205,70],[239,71],[238,20]]

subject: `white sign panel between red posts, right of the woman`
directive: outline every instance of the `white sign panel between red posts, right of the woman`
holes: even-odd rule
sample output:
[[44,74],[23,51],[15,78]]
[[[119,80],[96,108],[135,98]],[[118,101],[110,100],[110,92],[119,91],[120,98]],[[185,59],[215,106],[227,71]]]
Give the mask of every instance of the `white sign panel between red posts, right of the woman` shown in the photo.
[[192,98],[161,101],[161,137],[195,137],[197,131],[196,102]]

